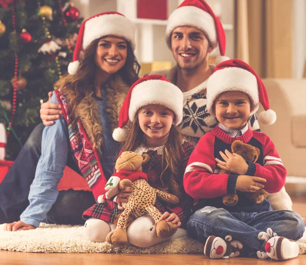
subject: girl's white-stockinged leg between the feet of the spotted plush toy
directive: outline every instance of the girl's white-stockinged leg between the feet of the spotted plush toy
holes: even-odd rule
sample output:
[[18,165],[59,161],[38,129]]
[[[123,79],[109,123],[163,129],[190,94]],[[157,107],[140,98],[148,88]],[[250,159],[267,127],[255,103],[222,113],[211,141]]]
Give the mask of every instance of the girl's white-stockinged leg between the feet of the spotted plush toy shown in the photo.
[[150,215],[137,218],[130,227],[127,228],[127,239],[129,239],[131,244],[140,248],[147,248],[183,236],[187,236],[187,230],[177,228],[177,231],[171,237],[164,239],[158,237],[155,221]]

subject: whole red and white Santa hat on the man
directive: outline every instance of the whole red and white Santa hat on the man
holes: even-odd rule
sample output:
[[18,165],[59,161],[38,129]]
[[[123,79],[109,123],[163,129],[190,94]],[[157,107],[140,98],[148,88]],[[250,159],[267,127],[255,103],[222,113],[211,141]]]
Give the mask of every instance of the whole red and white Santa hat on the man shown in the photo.
[[193,26],[201,30],[213,48],[219,44],[220,56],[217,56],[216,64],[230,59],[224,56],[226,43],[223,26],[205,1],[185,0],[171,13],[166,28],[166,42],[170,49],[172,31],[178,26]]

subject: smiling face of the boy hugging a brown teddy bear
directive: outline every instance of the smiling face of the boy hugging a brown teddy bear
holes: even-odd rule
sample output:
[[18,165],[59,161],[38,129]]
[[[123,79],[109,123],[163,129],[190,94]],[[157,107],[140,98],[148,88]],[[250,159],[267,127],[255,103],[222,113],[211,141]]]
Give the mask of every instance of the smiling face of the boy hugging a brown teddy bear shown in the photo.
[[242,129],[250,117],[251,104],[247,94],[228,91],[216,98],[213,108],[221,124],[232,129]]

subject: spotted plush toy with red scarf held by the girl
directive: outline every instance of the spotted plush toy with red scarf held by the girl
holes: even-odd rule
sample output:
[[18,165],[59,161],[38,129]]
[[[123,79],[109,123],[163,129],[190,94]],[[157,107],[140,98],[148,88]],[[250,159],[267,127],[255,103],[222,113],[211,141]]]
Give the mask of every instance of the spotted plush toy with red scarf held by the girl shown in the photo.
[[[149,155],[147,154],[122,152],[115,165],[117,173],[106,184],[106,190],[108,190],[106,198],[113,196],[121,189],[131,187],[131,195],[127,203],[122,203],[124,210],[118,219],[116,229],[106,236],[106,241],[112,245],[122,246],[128,243],[126,222],[130,215],[138,218],[150,214],[156,222],[157,235],[160,237],[169,237],[177,230],[176,224],[160,220],[162,214],[154,205],[156,197],[171,204],[179,203],[179,198],[149,186],[147,176],[142,172],[142,164],[148,160]],[[121,180],[118,181],[119,179]]]

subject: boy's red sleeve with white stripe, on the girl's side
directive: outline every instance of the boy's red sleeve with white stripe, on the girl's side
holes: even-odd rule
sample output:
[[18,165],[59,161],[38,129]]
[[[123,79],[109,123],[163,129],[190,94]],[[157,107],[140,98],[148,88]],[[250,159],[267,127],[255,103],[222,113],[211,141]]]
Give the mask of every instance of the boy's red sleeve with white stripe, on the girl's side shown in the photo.
[[227,174],[214,174],[215,137],[203,136],[192,152],[184,174],[185,191],[194,199],[215,198],[226,194]]

